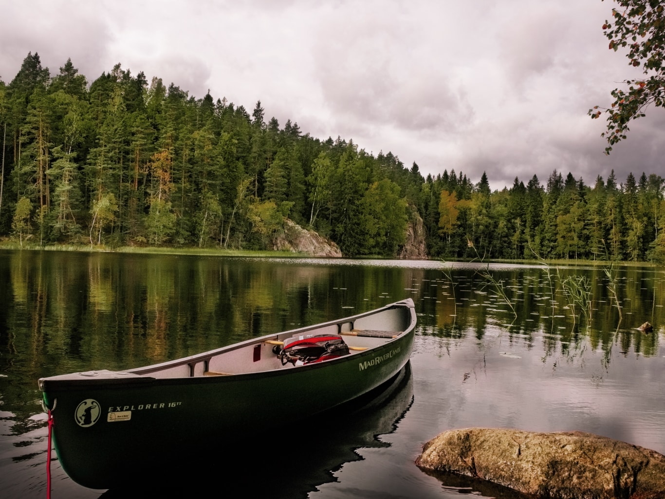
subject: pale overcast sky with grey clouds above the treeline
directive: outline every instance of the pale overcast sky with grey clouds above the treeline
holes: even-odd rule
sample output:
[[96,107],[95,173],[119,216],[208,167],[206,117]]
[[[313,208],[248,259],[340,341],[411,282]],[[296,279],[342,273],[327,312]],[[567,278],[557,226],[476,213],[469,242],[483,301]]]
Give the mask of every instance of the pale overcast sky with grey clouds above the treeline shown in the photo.
[[554,169],[665,176],[665,112],[603,154],[610,90],[640,73],[608,50],[612,0],[0,0],[0,79],[29,53],[88,83],[116,63],[207,90],[325,140],[390,151],[491,188]]

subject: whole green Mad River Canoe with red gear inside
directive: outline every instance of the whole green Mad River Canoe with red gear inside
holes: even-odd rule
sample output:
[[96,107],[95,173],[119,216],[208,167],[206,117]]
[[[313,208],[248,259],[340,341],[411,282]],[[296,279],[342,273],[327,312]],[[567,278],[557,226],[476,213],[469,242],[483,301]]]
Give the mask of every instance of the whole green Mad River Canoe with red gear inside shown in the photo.
[[[390,380],[411,355],[411,299],[127,371],[39,379],[65,472],[111,488],[159,460],[232,452]],[[187,457],[186,457],[187,456]]]

